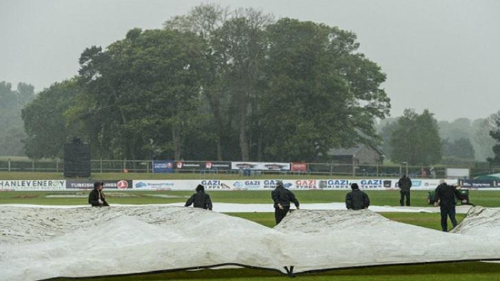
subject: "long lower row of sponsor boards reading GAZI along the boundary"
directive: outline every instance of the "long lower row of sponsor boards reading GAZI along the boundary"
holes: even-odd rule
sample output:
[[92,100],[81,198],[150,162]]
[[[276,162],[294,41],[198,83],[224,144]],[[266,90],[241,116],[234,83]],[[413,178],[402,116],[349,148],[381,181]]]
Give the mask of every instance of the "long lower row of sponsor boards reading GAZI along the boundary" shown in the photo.
[[[194,191],[198,184],[207,191],[236,190],[271,190],[276,187],[276,180],[103,180],[105,189],[130,190],[172,190]],[[440,180],[412,179],[411,190],[433,190]],[[286,188],[292,190],[350,190],[350,184],[356,183],[364,190],[398,190],[398,179],[366,178],[366,179],[327,179],[327,180],[282,180]],[[455,180],[446,180],[448,184],[457,184]],[[92,189],[93,181],[84,180],[0,180],[0,191],[58,191]],[[500,182],[488,180],[459,180],[464,188],[481,190],[500,188]]]

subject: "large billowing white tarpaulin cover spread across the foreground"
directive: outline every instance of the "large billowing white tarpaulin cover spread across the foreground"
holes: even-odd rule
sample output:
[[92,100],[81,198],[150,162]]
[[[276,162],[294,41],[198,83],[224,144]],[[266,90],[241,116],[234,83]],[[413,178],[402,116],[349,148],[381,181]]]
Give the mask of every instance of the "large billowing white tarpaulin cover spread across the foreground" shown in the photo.
[[476,207],[470,213],[473,219],[464,219],[457,233],[445,233],[370,210],[295,210],[277,227],[266,228],[218,212],[172,206],[0,206],[0,280],[227,264],[283,273],[293,266],[301,273],[500,259],[499,209]]

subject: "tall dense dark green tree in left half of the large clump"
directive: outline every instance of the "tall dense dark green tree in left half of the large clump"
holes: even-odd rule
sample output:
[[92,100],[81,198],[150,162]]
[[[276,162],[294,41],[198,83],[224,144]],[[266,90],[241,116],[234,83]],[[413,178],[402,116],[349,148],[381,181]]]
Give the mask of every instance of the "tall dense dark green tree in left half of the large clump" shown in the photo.
[[100,154],[148,158],[157,148],[180,160],[198,116],[206,45],[192,33],[131,29],[124,40],[85,49],[81,103],[68,114]]

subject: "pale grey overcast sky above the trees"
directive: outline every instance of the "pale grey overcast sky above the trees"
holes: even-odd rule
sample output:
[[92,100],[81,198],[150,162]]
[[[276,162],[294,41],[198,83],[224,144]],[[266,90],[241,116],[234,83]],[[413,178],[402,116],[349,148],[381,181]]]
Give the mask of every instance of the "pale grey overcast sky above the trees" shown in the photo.
[[[500,110],[500,1],[204,1],[253,7],[276,19],[336,25],[387,74],[391,116],[428,108],[438,120]],[[0,81],[39,91],[78,72],[86,47],[108,46],[134,27],[161,28],[201,1],[0,0]]]

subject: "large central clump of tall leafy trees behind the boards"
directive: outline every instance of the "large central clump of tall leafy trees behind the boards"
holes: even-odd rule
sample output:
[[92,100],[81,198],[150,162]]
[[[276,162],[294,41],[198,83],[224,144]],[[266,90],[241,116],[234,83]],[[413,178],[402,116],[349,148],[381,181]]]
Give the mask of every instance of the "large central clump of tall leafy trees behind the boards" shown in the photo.
[[338,27],[199,5],[84,49],[76,77],[23,109],[26,154],[80,137],[94,158],[328,160],[378,140],[389,114],[385,74],[358,49]]

